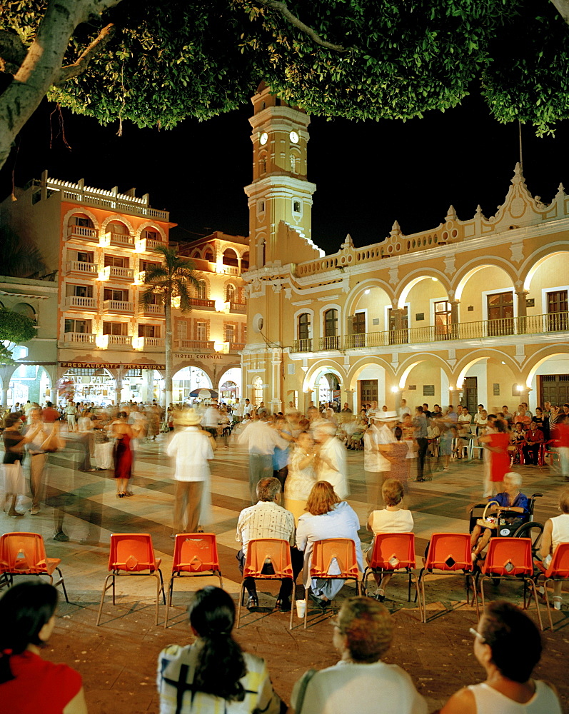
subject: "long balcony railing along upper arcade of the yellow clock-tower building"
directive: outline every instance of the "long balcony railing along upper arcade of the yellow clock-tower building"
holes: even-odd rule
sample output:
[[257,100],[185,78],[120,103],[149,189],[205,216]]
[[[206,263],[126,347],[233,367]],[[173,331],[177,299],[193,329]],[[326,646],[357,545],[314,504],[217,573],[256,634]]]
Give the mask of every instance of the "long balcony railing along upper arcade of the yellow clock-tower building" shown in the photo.
[[[540,335],[569,331],[569,313],[548,313],[498,320],[480,320],[450,325],[416,327],[410,329],[366,332],[356,335],[321,337],[318,350],[349,350],[357,348],[389,347],[393,345],[433,343],[448,340],[480,340],[486,338]],[[296,340],[292,352],[311,352],[311,340]]]

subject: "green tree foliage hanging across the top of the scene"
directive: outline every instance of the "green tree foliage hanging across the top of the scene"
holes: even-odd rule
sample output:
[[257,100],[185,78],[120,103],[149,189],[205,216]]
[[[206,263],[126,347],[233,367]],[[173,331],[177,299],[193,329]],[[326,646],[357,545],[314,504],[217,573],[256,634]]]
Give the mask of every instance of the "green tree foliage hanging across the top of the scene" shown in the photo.
[[[561,0],[558,0],[561,1]],[[47,0],[4,3],[0,28],[34,39]],[[73,64],[114,36],[51,99],[101,123],[175,126],[235,109],[261,80],[311,114],[410,119],[480,88],[498,121],[539,134],[566,119],[569,27],[547,0],[119,0],[79,25]]]

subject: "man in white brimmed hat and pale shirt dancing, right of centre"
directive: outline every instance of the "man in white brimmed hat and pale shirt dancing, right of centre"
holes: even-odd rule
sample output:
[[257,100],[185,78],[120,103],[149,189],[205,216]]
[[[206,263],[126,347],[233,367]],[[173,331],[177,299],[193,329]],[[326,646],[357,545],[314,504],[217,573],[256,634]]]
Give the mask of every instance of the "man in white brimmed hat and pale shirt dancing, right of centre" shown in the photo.
[[371,416],[372,426],[366,431],[363,446],[363,471],[366,473],[368,489],[368,509],[373,511],[381,504],[383,481],[391,471],[391,444],[396,441],[393,427],[398,421],[396,411],[376,411]]

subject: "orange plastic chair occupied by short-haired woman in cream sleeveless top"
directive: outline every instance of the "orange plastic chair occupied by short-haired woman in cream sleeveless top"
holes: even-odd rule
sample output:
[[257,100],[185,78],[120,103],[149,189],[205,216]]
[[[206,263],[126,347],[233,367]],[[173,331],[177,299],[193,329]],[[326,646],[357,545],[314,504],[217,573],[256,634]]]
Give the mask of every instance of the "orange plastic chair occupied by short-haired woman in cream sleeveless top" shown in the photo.
[[[409,576],[407,599],[411,602],[411,578],[415,579],[416,592],[419,592],[417,575],[413,572],[415,565],[415,533],[377,533],[373,539],[370,563],[363,571],[361,579],[362,594],[368,594],[368,578],[371,573],[395,575],[403,572]],[[421,612],[421,598],[418,598],[418,603]]]

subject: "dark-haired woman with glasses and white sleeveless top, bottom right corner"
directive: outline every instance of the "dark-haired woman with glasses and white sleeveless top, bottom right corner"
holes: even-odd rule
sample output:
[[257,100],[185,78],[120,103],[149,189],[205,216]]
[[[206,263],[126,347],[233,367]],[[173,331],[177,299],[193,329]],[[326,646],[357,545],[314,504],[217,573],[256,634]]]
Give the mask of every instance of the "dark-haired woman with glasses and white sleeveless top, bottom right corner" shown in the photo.
[[474,635],[474,655],[486,673],[485,682],[458,690],[440,714],[547,712],[561,714],[553,685],[531,679],[541,658],[541,637],[528,615],[515,605],[491,603]]

